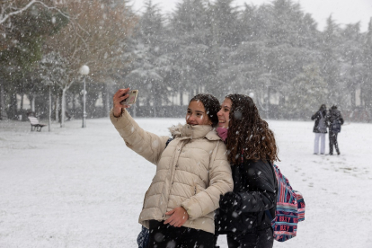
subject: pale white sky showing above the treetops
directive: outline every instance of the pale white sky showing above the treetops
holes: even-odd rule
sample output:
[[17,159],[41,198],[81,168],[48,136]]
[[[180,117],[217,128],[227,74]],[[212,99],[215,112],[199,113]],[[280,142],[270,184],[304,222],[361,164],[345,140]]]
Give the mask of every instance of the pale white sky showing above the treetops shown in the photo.
[[[148,0],[131,0],[135,11],[143,11],[144,3]],[[172,12],[175,4],[180,0],[152,0],[154,4],[164,10],[164,13]],[[271,0],[235,0],[235,5],[268,4]],[[303,11],[311,13],[318,22],[318,29],[323,31],[326,19],[332,14],[336,22],[340,24],[356,23],[360,21],[361,31],[368,30],[368,22],[372,17],[372,0],[294,0],[298,2]]]

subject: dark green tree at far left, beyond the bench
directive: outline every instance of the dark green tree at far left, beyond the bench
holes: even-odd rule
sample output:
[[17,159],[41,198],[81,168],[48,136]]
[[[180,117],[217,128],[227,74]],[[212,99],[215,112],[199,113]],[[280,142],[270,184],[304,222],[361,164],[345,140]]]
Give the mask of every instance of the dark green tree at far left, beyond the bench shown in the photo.
[[40,60],[43,40],[56,34],[68,21],[65,13],[34,4],[22,14],[14,15],[10,25],[2,25],[3,35],[0,37],[2,118],[6,117],[5,94],[10,96],[8,111],[11,118],[17,116],[15,94],[20,89],[19,84],[22,84],[19,83],[20,79],[30,73]]

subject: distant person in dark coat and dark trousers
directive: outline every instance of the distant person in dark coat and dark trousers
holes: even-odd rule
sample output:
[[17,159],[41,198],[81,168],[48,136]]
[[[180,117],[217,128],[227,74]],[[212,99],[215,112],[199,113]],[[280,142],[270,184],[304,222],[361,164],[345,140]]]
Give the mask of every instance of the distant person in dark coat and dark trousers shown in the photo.
[[341,125],[343,125],[343,118],[341,112],[337,110],[336,105],[332,105],[331,110],[328,112],[327,126],[329,127],[329,138],[330,138],[330,154],[333,155],[333,146],[336,148],[337,155],[340,155],[339,143],[337,136],[341,132]]

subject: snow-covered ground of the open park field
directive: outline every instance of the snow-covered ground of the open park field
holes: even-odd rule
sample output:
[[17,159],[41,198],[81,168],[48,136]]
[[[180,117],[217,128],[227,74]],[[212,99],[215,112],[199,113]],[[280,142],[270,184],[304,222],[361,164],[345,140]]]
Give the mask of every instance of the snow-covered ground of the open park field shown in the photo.
[[[137,119],[168,135],[182,119]],[[372,125],[346,123],[341,155],[313,155],[314,122],[269,121],[277,163],[306,201],[297,237],[274,247],[372,247]],[[328,137],[327,137],[328,139]],[[326,146],[328,152],[328,142]],[[0,247],[137,247],[137,217],[155,166],[129,150],[109,119],[0,121]],[[226,248],[226,237],[218,243]]]

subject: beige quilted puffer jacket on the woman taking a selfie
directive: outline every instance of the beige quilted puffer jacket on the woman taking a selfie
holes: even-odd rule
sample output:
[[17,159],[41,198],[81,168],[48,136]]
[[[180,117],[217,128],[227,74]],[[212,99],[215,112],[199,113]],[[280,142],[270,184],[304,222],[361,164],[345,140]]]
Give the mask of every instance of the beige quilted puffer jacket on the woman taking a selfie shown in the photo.
[[165,220],[165,212],[182,206],[189,214],[183,226],[214,234],[214,210],[219,196],[232,191],[234,184],[226,146],[210,126],[179,125],[169,137],[159,137],[139,128],[128,111],[112,124],[126,145],[157,165],[155,177],[146,191],[139,223],[149,227],[149,220]]

